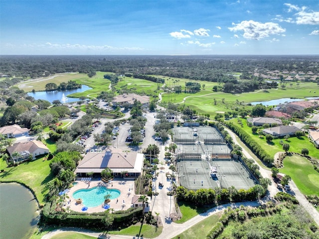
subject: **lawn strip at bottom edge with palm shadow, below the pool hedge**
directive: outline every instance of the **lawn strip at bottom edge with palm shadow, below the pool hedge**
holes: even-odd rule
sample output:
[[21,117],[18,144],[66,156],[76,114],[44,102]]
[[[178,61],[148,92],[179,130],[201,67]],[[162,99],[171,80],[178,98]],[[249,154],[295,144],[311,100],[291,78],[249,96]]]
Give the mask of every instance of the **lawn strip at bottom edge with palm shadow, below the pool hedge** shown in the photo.
[[137,237],[140,235],[140,237],[143,238],[156,238],[160,236],[161,231],[163,230],[163,227],[155,227],[151,225],[143,225],[141,226],[130,226],[128,228],[122,229],[121,231],[110,231],[109,234],[115,234],[115,235],[127,235],[127,236],[133,236]]

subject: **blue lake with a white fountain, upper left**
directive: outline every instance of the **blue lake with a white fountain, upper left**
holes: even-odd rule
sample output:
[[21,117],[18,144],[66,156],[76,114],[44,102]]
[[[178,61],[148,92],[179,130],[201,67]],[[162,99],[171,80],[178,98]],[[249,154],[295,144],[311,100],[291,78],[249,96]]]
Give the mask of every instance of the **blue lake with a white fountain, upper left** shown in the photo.
[[[72,90],[66,90],[66,91],[39,91],[39,92],[30,92],[28,93],[29,96],[32,96],[35,100],[46,100],[49,102],[53,102],[54,100],[60,100],[63,98],[63,94],[64,96],[66,96],[66,103],[68,102],[76,102],[79,101],[78,98],[70,98],[67,97],[68,95],[71,95],[73,93],[77,93],[77,92],[84,92],[84,91],[88,91],[91,90],[91,87],[88,87],[86,85],[82,85],[82,88],[78,88],[78,89],[72,89]],[[63,103],[63,102],[62,102]]]

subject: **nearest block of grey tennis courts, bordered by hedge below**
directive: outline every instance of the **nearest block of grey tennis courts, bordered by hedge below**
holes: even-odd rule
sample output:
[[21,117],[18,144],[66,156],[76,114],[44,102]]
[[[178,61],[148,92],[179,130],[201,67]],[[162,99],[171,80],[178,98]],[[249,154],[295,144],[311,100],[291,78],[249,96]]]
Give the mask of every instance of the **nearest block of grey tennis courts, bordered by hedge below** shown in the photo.
[[[217,177],[211,176],[211,166],[217,168]],[[180,159],[177,170],[180,185],[192,190],[231,186],[249,189],[257,183],[241,162],[234,159]]]

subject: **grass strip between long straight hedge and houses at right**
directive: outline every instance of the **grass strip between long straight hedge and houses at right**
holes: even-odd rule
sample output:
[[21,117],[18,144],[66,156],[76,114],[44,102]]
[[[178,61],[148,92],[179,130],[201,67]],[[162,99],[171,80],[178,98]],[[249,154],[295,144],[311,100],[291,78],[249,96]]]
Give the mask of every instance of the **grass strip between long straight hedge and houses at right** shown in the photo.
[[[238,119],[239,118],[234,118],[234,119],[231,119],[231,121],[235,125],[240,126],[238,124],[238,122],[237,122]],[[272,156],[272,157],[275,156],[275,153],[277,153],[279,151],[284,151],[282,145],[280,145],[280,140],[283,140],[284,143],[289,143],[289,145],[290,145],[289,151],[296,152],[296,153],[301,153],[301,150],[303,148],[308,148],[309,155],[319,159],[319,150],[314,146],[313,143],[311,143],[309,141],[307,136],[302,136],[300,138],[298,138],[298,137],[290,137],[288,139],[288,141],[286,141],[283,138],[276,138],[276,139],[273,139],[272,142],[267,142],[265,136],[260,137],[260,135],[258,135],[257,133],[256,134],[252,133],[251,127],[249,127],[247,125],[247,120],[246,119],[240,119],[240,120],[243,122],[242,129],[244,129],[247,133],[249,133],[251,135],[251,137],[256,142],[258,142],[258,144],[261,147],[263,147],[269,153],[269,155]]]

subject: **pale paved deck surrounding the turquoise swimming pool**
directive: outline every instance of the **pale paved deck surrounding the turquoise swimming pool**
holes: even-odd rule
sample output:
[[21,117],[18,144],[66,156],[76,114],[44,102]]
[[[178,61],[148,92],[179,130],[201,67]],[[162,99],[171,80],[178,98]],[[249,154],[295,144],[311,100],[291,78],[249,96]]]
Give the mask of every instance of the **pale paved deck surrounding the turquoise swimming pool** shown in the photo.
[[[70,191],[67,193],[67,196],[69,198],[66,199],[66,203],[64,208],[70,207],[70,210],[75,212],[82,212],[82,208],[84,205],[77,204],[76,198],[72,197],[72,194],[79,189],[88,189],[98,186],[99,183],[101,183],[100,180],[93,178],[91,181],[81,181],[80,179],[77,179],[75,182],[78,184],[74,185],[72,188],[70,188]],[[113,185],[113,186],[112,186]],[[120,210],[127,210],[131,207],[131,201],[132,197],[134,196],[134,179],[113,179],[110,183],[107,184],[107,188],[109,189],[118,189],[121,191],[121,195],[117,199],[112,199],[110,203],[110,208],[114,211],[120,211]],[[129,190],[130,189],[130,190]],[[68,201],[70,201],[68,203]],[[124,200],[124,201],[123,201]],[[123,203],[125,202],[125,203]],[[94,207],[94,208],[88,208],[88,210],[84,211],[85,213],[98,213],[98,212],[104,212],[105,209],[103,208],[104,204]]]

